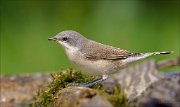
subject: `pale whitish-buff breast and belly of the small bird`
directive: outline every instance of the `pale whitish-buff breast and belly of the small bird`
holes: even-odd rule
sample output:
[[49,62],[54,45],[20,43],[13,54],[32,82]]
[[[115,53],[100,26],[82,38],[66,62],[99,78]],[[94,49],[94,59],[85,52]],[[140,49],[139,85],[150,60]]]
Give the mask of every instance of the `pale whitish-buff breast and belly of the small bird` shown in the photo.
[[86,59],[76,48],[66,49],[66,54],[71,62],[90,75],[103,75],[110,66],[105,60],[92,61]]

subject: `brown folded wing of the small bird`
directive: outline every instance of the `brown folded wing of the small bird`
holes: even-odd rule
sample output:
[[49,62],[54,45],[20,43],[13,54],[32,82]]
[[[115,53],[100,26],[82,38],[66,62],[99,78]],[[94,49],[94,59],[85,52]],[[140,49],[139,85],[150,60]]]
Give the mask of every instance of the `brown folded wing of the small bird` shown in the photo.
[[91,60],[118,60],[126,59],[131,56],[133,53],[115,48],[108,45],[103,45],[94,41],[88,42],[86,45],[83,45],[81,52],[85,58]]

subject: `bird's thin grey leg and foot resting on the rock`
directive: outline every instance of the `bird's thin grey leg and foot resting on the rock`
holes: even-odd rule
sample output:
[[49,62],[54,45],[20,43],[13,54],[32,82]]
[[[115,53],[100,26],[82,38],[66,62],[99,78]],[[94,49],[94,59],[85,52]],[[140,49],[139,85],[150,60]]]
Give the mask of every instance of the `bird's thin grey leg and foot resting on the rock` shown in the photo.
[[90,87],[92,85],[98,84],[104,80],[106,80],[108,78],[108,75],[102,75],[100,78],[95,79],[93,81],[90,82],[85,82],[85,83],[72,83],[70,84],[70,86],[83,86],[83,87]]

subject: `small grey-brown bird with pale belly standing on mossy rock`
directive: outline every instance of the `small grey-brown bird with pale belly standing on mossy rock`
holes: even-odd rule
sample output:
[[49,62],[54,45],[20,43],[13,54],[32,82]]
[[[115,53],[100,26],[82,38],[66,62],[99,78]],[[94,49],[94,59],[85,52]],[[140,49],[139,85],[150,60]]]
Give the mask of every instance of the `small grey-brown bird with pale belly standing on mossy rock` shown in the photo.
[[62,31],[48,40],[55,41],[64,47],[69,60],[84,73],[100,77],[90,82],[74,84],[85,87],[106,80],[111,73],[120,71],[132,62],[153,55],[172,53],[172,51],[134,53],[87,39],[73,30]]

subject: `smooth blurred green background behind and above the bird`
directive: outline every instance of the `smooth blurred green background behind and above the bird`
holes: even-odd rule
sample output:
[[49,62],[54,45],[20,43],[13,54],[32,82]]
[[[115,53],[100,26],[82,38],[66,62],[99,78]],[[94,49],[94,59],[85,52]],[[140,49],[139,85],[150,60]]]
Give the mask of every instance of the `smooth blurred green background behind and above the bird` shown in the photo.
[[50,72],[74,67],[47,39],[75,30],[89,39],[132,52],[179,55],[179,1],[1,0],[1,73]]

